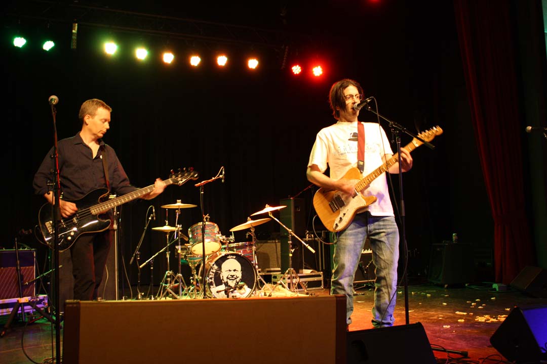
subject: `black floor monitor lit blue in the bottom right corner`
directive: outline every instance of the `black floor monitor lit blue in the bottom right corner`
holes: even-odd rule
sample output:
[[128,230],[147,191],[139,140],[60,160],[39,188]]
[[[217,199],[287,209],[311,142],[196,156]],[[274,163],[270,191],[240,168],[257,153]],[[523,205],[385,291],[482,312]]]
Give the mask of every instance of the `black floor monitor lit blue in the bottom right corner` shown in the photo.
[[547,305],[513,308],[490,343],[511,362],[547,361]]

